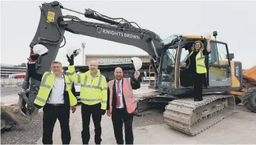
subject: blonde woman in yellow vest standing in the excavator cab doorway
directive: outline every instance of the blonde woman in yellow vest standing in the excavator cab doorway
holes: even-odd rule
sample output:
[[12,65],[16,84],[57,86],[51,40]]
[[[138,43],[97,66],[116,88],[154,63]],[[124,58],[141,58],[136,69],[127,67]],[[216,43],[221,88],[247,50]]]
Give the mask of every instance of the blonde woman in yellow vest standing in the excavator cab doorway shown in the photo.
[[194,90],[194,101],[203,100],[203,83],[206,81],[206,65],[205,55],[209,55],[210,43],[207,41],[207,49],[203,49],[203,43],[201,41],[195,41],[191,47],[192,52],[189,54],[189,58],[183,63],[183,65],[189,64],[189,72],[192,74]]

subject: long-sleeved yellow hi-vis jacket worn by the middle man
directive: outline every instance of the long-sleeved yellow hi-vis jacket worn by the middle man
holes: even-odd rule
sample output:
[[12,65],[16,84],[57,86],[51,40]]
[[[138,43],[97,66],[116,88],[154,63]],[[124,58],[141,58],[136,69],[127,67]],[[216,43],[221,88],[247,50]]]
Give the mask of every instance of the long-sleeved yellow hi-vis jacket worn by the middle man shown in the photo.
[[83,104],[101,103],[101,109],[107,109],[107,81],[100,70],[92,78],[90,70],[86,73],[75,73],[75,66],[68,66],[69,77],[75,83],[80,83],[80,99]]

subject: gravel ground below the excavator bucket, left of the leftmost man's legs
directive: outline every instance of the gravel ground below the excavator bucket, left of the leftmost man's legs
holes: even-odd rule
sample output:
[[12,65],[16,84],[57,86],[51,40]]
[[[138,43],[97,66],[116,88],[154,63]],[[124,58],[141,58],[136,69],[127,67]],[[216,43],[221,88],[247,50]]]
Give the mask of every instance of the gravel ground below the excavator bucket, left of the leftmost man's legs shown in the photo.
[[42,135],[43,113],[39,112],[30,124],[1,131],[1,144],[36,144]]

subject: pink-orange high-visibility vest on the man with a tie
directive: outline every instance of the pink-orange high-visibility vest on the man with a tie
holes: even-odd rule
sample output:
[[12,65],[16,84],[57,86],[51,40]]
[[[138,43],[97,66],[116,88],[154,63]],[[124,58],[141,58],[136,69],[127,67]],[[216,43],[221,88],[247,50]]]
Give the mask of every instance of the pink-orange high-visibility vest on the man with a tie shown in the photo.
[[[124,94],[124,101],[127,106],[127,112],[132,113],[137,107],[135,97],[132,92],[132,86],[130,83],[130,78],[123,78],[123,94]],[[112,95],[113,95],[113,86],[115,80],[111,80],[109,82],[108,87],[110,88],[110,112],[112,112]]]

